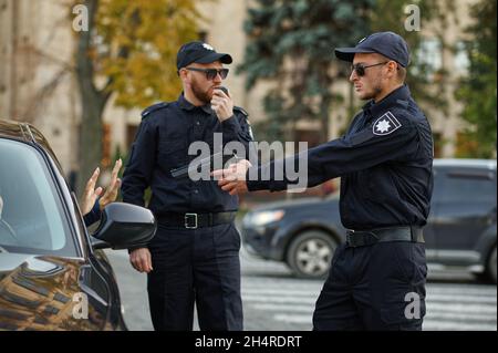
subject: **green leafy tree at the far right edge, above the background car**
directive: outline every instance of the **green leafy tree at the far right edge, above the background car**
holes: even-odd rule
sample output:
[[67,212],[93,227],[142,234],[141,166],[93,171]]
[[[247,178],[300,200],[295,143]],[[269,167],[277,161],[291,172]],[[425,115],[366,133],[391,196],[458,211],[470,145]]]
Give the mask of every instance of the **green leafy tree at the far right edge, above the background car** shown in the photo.
[[467,29],[471,40],[466,42],[469,74],[456,96],[465,105],[461,117],[469,123],[464,139],[474,143],[460,152],[460,157],[496,158],[496,3],[481,0],[470,8],[474,24]]

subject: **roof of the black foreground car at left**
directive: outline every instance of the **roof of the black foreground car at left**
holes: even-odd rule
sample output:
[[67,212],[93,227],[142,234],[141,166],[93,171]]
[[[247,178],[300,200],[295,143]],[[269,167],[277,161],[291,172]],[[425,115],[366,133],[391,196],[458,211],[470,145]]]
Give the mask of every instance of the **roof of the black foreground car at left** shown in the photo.
[[0,138],[2,137],[17,139],[28,144],[34,144],[42,147],[52,157],[58,168],[62,172],[59,159],[50,147],[49,142],[43,134],[30,123],[0,120]]

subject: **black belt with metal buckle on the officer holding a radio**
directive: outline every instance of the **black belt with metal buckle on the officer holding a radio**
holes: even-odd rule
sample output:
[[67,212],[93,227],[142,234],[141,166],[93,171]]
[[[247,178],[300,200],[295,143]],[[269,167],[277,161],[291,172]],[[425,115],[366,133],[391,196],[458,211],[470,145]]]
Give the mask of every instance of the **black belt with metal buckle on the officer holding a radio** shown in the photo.
[[236,211],[216,214],[168,212],[157,216],[157,221],[172,227],[197,229],[232,222],[236,215]]

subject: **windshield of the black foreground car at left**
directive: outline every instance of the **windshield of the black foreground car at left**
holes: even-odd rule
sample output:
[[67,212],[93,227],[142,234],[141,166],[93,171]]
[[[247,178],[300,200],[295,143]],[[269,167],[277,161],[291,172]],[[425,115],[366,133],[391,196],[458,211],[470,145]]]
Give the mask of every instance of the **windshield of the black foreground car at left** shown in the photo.
[[50,170],[34,147],[0,139],[0,248],[73,255],[69,226]]

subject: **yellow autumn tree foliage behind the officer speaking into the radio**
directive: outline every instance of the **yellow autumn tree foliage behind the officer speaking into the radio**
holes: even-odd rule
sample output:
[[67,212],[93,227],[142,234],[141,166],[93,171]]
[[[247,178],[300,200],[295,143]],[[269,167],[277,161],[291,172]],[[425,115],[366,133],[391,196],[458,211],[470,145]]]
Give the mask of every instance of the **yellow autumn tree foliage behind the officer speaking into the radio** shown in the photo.
[[95,22],[96,75],[112,79],[116,104],[146,106],[181,89],[176,53],[198,38],[194,0],[101,0]]

